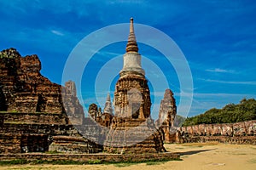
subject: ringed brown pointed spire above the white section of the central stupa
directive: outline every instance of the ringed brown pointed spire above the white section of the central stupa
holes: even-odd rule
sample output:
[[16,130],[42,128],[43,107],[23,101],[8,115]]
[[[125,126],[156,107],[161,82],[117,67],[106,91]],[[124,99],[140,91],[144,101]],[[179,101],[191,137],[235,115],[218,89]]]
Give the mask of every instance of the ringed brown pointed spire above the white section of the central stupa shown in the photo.
[[130,19],[130,34],[126,45],[126,52],[138,52],[137,41],[134,34],[133,18]]

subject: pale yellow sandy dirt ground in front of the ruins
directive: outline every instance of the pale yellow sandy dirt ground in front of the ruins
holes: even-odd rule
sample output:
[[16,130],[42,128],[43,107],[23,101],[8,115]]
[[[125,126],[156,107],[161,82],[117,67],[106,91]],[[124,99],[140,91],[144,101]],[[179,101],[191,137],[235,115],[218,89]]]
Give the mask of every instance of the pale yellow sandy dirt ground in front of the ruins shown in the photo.
[[54,170],[256,170],[256,145],[239,144],[165,144],[169,151],[180,152],[182,161],[119,163],[110,165],[20,165],[0,169]]

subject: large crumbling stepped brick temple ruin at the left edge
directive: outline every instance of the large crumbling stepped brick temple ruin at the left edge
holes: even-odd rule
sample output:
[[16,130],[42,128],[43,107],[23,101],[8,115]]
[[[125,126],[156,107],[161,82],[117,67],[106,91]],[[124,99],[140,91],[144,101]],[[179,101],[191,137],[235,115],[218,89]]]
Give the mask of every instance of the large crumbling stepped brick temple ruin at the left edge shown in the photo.
[[70,81],[61,87],[40,70],[37,55],[21,57],[15,48],[0,52],[0,153],[101,151],[101,145],[85,139],[73,127],[88,119],[75,84]]

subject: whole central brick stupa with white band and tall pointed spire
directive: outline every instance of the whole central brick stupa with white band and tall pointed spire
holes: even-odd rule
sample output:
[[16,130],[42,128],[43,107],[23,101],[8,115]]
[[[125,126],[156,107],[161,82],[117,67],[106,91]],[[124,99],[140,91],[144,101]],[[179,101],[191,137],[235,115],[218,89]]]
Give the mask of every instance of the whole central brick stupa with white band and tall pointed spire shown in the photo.
[[131,19],[124,66],[115,85],[114,114],[105,140],[110,153],[161,152],[165,148],[161,133],[150,116],[150,92],[141,66]]

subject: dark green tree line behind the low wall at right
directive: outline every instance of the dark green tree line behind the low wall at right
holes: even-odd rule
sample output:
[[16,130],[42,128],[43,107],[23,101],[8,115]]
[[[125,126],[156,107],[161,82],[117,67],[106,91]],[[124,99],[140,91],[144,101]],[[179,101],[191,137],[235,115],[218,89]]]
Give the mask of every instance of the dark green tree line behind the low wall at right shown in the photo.
[[256,100],[241,99],[240,104],[225,105],[222,109],[212,108],[204,114],[187,117],[183,126],[213,123],[232,123],[256,120]]

